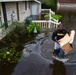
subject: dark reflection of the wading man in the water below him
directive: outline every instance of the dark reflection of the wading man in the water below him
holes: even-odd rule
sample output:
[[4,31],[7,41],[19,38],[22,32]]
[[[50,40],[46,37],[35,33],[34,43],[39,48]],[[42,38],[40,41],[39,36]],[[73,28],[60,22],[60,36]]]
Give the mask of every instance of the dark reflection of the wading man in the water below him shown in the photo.
[[66,75],[66,68],[63,62],[53,60],[53,64],[50,67],[53,69],[52,75]]

